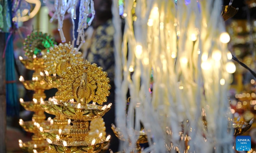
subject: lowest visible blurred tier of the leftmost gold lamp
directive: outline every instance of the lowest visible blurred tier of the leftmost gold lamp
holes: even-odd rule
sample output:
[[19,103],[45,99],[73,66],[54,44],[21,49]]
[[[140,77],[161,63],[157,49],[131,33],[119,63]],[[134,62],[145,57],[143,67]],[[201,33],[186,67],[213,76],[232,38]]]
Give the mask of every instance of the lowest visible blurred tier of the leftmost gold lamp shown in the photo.
[[22,149],[23,152],[26,152],[26,153],[34,153],[33,149],[36,149],[36,151],[43,151],[48,149],[48,145],[45,140],[24,142],[22,143],[22,145],[23,146],[20,148]]

